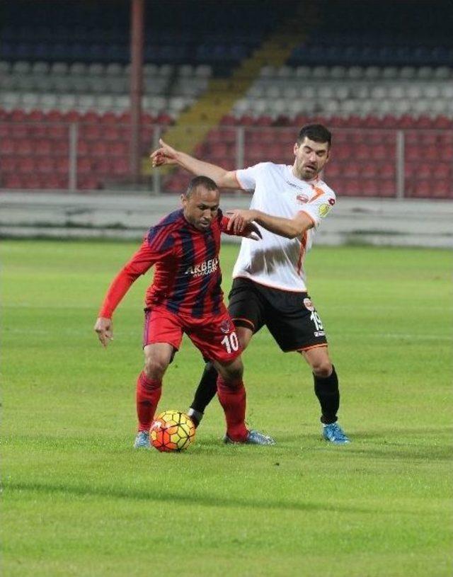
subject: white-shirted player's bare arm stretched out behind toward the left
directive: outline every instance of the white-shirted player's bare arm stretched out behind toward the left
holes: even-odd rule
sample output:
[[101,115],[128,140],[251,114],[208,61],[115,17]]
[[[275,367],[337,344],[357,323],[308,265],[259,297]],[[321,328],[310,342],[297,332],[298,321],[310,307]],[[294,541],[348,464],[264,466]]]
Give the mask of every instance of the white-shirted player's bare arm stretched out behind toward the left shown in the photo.
[[169,146],[162,139],[159,139],[159,144],[161,147],[149,156],[152,166],[178,165],[196,176],[209,176],[219,188],[239,188],[235,171],[226,171],[216,164],[195,159]]

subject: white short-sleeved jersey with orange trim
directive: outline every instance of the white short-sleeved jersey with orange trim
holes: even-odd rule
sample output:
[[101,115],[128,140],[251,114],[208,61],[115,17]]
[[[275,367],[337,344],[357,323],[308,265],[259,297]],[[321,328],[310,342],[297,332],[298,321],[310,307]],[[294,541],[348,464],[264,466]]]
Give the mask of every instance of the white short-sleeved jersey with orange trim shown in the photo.
[[268,287],[306,292],[304,257],[321,219],[335,205],[335,193],[319,178],[302,181],[294,176],[292,166],[272,162],[238,170],[236,178],[241,188],[254,191],[251,209],[288,219],[306,212],[314,227],[302,238],[286,239],[258,225],[263,239],[242,239],[233,278],[245,277]]

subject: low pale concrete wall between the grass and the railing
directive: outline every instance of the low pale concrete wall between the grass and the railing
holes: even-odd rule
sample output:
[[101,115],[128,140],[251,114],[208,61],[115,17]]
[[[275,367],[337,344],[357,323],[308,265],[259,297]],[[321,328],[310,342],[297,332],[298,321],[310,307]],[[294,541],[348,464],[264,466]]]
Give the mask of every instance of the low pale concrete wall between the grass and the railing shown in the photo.
[[[248,204],[242,195],[222,196],[224,211]],[[178,195],[0,193],[0,236],[139,240],[178,206]],[[453,203],[448,201],[340,198],[316,242],[453,248],[451,222]]]

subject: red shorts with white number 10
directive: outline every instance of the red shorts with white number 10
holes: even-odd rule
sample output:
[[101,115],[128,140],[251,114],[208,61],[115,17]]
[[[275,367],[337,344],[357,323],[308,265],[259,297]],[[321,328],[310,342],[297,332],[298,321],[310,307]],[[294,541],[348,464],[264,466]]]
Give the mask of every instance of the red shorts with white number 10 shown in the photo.
[[241,354],[234,323],[226,307],[219,314],[193,319],[185,314],[173,314],[164,307],[144,312],[143,346],[168,343],[179,349],[185,333],[205,358],[222,364]]

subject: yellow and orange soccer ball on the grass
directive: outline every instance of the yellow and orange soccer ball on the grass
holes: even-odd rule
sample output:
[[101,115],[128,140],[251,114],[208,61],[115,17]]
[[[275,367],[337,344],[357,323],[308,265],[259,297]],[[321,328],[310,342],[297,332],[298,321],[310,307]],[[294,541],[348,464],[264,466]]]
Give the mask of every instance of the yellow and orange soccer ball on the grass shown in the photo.
[[154,418],[149,437],[158,451],[184,451],[195,438],[195,425],[185,413],[164,411]]

